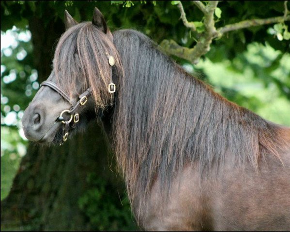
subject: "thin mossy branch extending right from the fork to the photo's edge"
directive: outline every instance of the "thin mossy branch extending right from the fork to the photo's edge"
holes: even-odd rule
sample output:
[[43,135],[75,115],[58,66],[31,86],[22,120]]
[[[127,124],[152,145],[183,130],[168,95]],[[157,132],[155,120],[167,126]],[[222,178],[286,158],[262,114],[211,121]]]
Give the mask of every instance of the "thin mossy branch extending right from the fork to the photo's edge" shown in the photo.
[[239,30],[254,26],[261,26],[265,24],[271,24],[271,23],[278,23],[283,21],[290,21],[290,15],[289,16],[278,16],[278,17],[272,17],[272,18],[265,18],[265,19],[250,19],[250,20],[244,20],[238,23],[229,24],[225,27],[221,27],[217,29],[218,36],[221,36],[223,33],[226,33],[228,31],[233,30]]

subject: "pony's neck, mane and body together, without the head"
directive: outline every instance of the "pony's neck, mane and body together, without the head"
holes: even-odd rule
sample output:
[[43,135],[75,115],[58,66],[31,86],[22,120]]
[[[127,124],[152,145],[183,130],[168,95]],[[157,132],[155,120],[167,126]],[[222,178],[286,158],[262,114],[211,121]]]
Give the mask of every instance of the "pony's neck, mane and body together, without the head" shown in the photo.
[[[112,124],[116,130],[130,124],[139,129],[127,135],[131,138],[127,144],[130,155],[123,153],[120,160],[128,165],[135,160],[139,165],[138,171],[131,167],[124,173],[132,178],[128,192],[132,192],[140,225],[146,230],[182,231],[290,229],[290,130],[216,95],[174,67],[176,64],[170,64],[144,35],[122,30],[114,37],[121,60],[125,60],[119,96],[131,96],[123,97],[127,102],[116,103],[117,111],[123,103],[126,112],[115,112]],[[129,49],[121,46],[128,41],[134,41]],[[163,69],[157,69],[158,65]],[[137,114],[138,110],[142,114]],[[121,115],[123,121],[118,122]],[[179,122],[183,132],[173,137]],[[196,134],[200,124],[202,130]],[[119,136],[124,139],[126,134]],[[135,138],[138,141],[132,141]],[[207,147],[200,149],[205,144]],[[174,145],[175,150],[170,148]],[[158,150],[158,146],[167,152]],[[143,167],[148,155],[159,160],[150,160]],[[151,179],[146,182],[148,175]],[[164,197],[167,192],[168,199]]]

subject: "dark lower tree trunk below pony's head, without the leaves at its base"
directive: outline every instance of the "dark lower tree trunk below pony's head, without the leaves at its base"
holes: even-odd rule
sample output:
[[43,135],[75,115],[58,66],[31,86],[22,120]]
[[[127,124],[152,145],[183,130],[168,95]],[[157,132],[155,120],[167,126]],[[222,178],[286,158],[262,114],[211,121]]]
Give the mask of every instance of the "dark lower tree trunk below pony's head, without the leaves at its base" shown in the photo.
[[93,229],[90,218],[78,204],[79,198],[92,188],[88,174],[95,173],[110,182],[113,189],[107,190],[115,191],[116,198],[118,188],[122,188],[109,169],[111,157],[106,152],[106,141],[96,131],[101,128],[94,121],[88,131],[76,134],[61,147],[29,146],[12,189],[1,202],[4,230]]

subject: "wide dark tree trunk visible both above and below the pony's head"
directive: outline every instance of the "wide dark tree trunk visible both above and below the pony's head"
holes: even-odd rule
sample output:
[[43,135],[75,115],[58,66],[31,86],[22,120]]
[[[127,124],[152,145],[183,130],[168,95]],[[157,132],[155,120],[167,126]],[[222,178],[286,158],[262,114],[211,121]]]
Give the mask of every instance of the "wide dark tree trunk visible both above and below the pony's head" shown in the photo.
[[[53,11],[47,9],[46,14],[53,15]],[[29,24],[35,68],[42,82],[51,72],[53,45],[64,25],[48,15],[31,16]],[[96,120],[61,147],[31,143],[9,195],[1,202],[1,231],[136,229],[128,205],[122,206],[125,188],[107,147]],[[94,198],[91,193],[98,194]]]

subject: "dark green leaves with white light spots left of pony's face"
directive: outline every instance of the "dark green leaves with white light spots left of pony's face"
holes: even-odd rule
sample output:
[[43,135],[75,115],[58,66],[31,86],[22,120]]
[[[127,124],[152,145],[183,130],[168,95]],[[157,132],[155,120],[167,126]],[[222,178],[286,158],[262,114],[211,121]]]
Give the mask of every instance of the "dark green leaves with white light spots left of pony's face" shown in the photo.
[[[1,99],[8,98],[7,103],[1,102],[1,115],[3,116],[13,111],[15,105],[19,106],[16,112],[25,110],[39,86],[37,71],[32,68],[32,43],[30,39],[29,41],[21,39],[29,38],[30,36],[27,34],[30,32],[19,29],[10,32],[15,37],[15,42],[4,48],[1,56],[1,67],[4,69],[1,72]],[[24,97],[23,93],[25,93]],[[9,106],[10,110],[4,110],[5,106]]]

